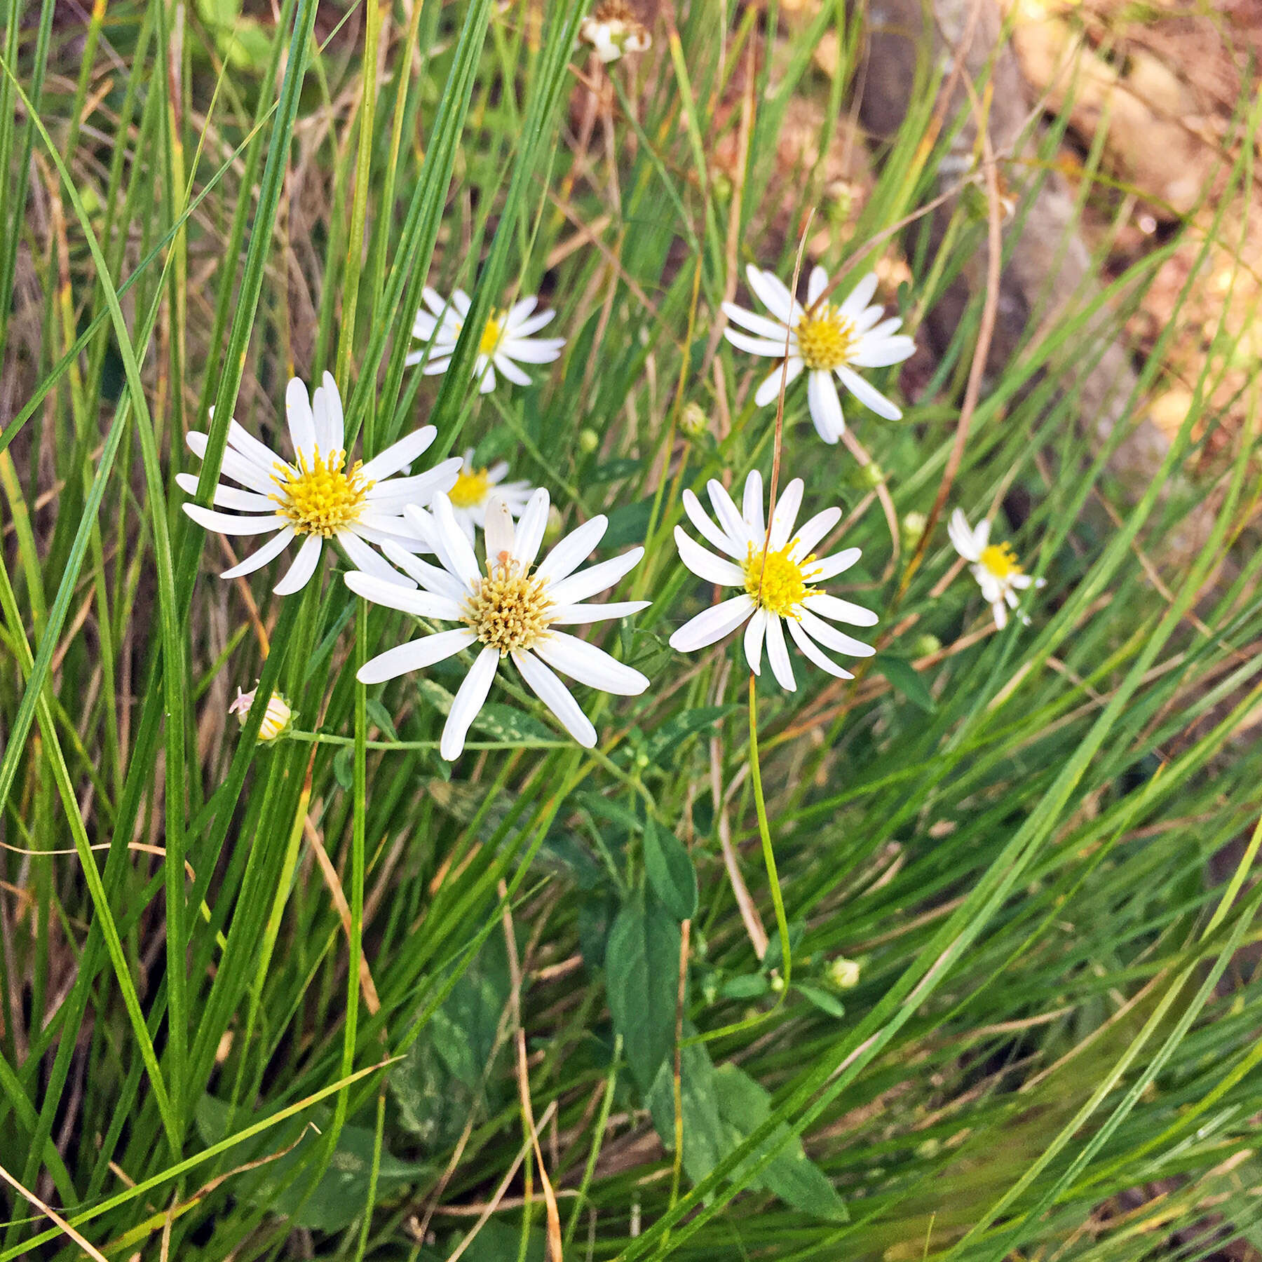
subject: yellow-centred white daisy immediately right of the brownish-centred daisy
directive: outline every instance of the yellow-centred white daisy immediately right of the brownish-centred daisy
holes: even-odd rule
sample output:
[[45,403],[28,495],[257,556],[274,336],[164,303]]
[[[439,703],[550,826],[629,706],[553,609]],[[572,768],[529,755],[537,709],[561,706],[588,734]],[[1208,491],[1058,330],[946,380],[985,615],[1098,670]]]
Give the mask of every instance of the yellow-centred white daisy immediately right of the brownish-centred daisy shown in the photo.
[[794,533],[803,492],[801,478],[795,477],[776,502],[769,535],[762,512],[762,475],[757,469],[745,480],[745,500],[740,511],[722,482],[712,478],[707,490],[718,525],[692,491],[684,491],[684,510],[702,536],[731,560],[716,557],[683,528],[675,526],[679,559],[698,578],[722,587],[740,587],[742,592],[685,622],[670,637],[671,649],[693,652],[748,623],[745,628],[745,656],[750,669],[756,675],[762,673],[762,642],[766,640],[771,673],[781,688],[794,692],[798,685],[784,634],[787,626],[789,635],[808,661],[838,679],[853,679],[848,670],[822,652],[819,645],[852,658],[871,658],[876,649],[844,635],[824,620],[870,627],[878,618],[871,610],[829,596],[814,584],[849,569],[861,553],[858,548],[847,548],[822,560],[811,553],[840,520],[842,510],[825,509]]

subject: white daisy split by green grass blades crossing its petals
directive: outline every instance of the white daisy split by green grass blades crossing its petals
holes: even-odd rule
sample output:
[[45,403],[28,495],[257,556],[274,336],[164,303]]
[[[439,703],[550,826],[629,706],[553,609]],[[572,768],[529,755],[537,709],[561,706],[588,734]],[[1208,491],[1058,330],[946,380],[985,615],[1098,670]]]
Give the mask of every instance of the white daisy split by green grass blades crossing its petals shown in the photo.
[[[457,289],[452,294],[449,303],[428,285],[422,292],[425,310],[423,307],[416,312],[415,323],[411,326],[411,336],[428,342],[429,361],[422,370],[427,376],[445,372],[452,362],[452,352],[456,350],[456,339],[461,336],[464,321],[469,313],[469,295],[463,289]],[[563,337],[535,337],[545,324],[551,323],[557,314],[551,310],[543,310],[533,314],[539,305],[538,298],[522,298],[514,303],[507,310],[496,310],[482,329],[478,342],[477,358],[473,361],[473,377],[480,382],[482,394],[490,394],[495,389],[495,372],[519,386],[529,386],[530,377],[517,365],[519,363],[551,363],[560,355],[565,345]],[[425,356],[425,350],[413,351],[405,363],[419,363]]]

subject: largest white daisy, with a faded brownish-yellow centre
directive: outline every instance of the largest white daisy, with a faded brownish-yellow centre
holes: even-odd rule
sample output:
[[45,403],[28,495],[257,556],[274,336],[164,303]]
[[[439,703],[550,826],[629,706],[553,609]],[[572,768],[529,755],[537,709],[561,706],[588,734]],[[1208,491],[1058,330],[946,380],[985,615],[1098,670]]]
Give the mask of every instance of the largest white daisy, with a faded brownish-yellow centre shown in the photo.
[[579,745],[586,748],[596,745],[596,728],[550,668],[620,697],[639,695],[649,680],[594,644],[555,628],[622,618],[645,608],[647,601],[582,603],[628,573],[644,549],[632,548],[621,557],[578,570],[608,525],[603,516],[597,516],[562,539],[535,567],[548,525],[548,492],[543,488],[530,496],[516,525],[507,502],[492,496],[486,511],[485,568],[478,565],[445,495],[434,496],[429,514],[416,507],[406,512],[418,529],[429,533],[442,569],[386,544],[386,555],[416,579],[422,589],[410,591],[376,574],[356,572],[346,575],[346,586],[377,604],[462,625],[379,654],[360,668],[361,683],[380,684],[409,670],[432,666],[462,649],[477,647],[443,727],[439,752],[444,758],[456,758],[464,748],[469,724],[486,702],[504,658],[512,658],[521,678]]

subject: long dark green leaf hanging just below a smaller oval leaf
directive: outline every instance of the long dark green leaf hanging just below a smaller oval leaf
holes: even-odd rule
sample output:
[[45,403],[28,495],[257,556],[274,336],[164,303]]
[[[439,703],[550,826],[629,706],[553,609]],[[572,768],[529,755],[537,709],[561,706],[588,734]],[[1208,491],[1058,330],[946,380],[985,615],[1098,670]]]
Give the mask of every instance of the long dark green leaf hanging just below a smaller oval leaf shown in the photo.
[[675,1046],[679,923],[651,893],[636,892],[618,912],[604,953],[613,1029],[631,1074],[647,1093]]

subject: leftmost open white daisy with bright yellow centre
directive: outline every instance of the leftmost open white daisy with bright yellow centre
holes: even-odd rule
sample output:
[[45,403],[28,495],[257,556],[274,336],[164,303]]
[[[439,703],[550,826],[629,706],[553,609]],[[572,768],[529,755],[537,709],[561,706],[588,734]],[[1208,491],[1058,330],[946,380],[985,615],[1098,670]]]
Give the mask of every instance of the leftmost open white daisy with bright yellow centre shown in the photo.
[[[285,411],[297,464],[279,457],[232,420],[221,469],[246,490],[221,482],[215,488],[213,502],[239,511],[215,512],[197,504],[184,505],[184,511],[207,530],[223,535],[273,536],[220,577],[251,574],[279,557],[295,535],[303,535],[298,555],[273,588],[278,596],[289,596],[307,586],[319,564],[326,539],[336,539],[360,569],[382,578],[394,575],[395,582],[403,582],[369,544],[380,546],[394,540],[415,546],[413,528],[400,516],[404,505],[424,502],[435,491],[445,491],[456,481],[459,458],[443,461],[413,477],[395,477],[434,440],[438,430],[423,425],[367,464],[356,461],[347,468],[342,447],[342,398],[337,382],[327,372],[324,384],[316,387],[312,399],[307,396],[307,386],[294,377],[285,391]],[[198,459],[206,456],[206,434],[189,432],[188,445]],[[196,493],[196,475],[178,473],[175,481],[189,495]]]

